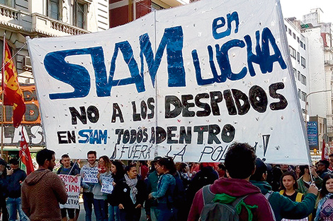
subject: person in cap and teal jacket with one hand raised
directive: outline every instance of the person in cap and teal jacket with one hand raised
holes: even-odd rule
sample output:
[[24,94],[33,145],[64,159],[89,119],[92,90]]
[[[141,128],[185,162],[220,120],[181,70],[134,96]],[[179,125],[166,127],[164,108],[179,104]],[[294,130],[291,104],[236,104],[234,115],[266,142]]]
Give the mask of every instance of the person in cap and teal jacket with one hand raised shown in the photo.
[[317,187],[315,185],[310,185],[304,200],[300,203],[293,202],[286,196],[271,191],[271,186],[266,182],[268,167],[270,166],[266,165],[266,163],[259,158],[256,158],[256,171],[250,177],[250,182],[254,184],[254,186],[259,187],[261,193],[268,198],[276,221],[280,221],[283,218],[294,220],[303,219],[309,216],[315,208],[315,201],[318,193]]

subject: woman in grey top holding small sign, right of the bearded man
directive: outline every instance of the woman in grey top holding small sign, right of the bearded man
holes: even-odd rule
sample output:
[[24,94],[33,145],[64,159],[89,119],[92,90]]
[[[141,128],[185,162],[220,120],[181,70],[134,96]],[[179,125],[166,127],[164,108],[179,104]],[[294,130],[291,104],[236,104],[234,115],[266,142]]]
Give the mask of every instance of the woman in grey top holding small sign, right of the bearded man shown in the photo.
[[93,186],[94,212],[97,221],[108,221],[108,193],[103,193],[103,179],[111,178],[111,161],[104,155],[98,159],[98,183]]

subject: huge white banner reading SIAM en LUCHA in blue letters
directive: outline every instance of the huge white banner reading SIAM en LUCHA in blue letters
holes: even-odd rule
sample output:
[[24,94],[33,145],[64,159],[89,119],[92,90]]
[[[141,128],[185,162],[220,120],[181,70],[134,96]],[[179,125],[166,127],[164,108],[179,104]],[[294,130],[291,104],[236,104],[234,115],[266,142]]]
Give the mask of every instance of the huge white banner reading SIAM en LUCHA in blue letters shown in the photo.
[[202,0],[104,32],[28,41],[47,148],[218,162],[247,142],[307,164],[278,0]]

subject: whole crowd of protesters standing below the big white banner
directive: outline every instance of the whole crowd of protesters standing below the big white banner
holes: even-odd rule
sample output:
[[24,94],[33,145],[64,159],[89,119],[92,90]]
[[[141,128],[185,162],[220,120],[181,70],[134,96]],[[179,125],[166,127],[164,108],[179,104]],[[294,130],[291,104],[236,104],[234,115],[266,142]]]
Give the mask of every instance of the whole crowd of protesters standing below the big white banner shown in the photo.
[[[2,220],[78,219],[79,209],[60,209],[67,196],[61,180],[51,172],[55,153],[40,152],[39,169],[28,177],[18,168],[18,160],[9,164],[0,160]],[[246,210],[239,210],[239,220],[333,220],[333,154],[314,166],[268,165],[256,158],[251,146],[235,143],[226,153],[225,164],[175,163],[171,157],[124,163],[106,155],[97,157],[94,150],[87,153],[87,161],[80,168],[64,154],[57,169],[57,174],[81,177],[87,221],[93,210],[98,221],[139,221],[142,208],[147,221],[204,220],[201,212],[208,192],[222,203],[225,196],[244,197]],[[83,180],[85,169],[92,167],[98,168],[97,183]],[[113,179],[112,193],[101,191],[103,179],[108,178]],[[59,213],[51,207],[59,208]]]

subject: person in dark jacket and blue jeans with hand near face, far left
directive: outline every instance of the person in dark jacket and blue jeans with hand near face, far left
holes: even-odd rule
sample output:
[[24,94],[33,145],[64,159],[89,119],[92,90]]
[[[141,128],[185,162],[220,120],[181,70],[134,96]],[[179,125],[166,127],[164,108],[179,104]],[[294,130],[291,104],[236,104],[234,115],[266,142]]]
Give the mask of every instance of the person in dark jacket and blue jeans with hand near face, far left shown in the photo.
[[27,174],[22,169],[18,168],[18,160],[13,158],[9,160],[11,169],[7,171],[7,191],[8,198],[6,201],[9,213],[9,221],[16,220],[16,214],[20,216],[21,221],[27,221],[28,217],[23,213],[21,203],[21,183],[26,179]]

